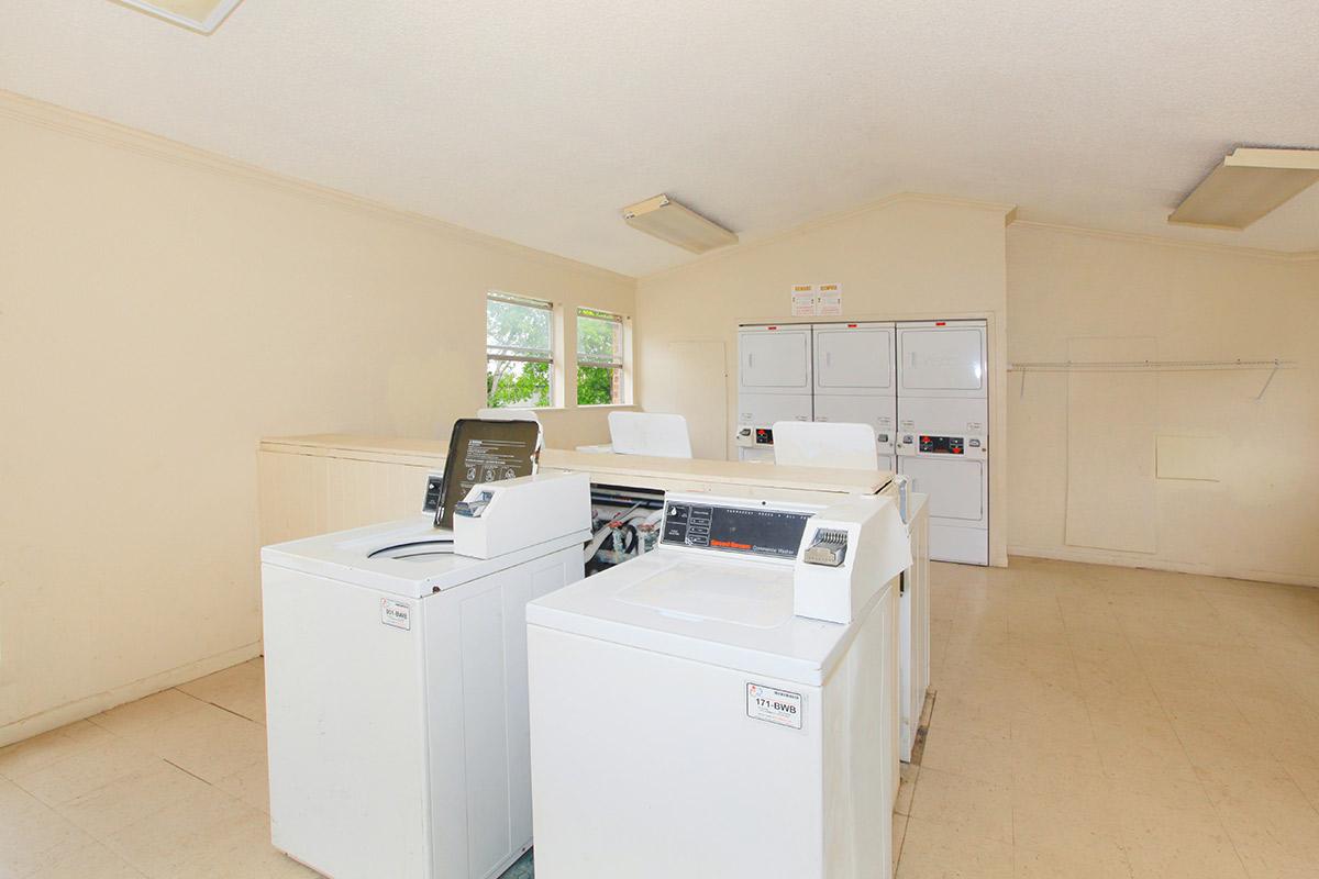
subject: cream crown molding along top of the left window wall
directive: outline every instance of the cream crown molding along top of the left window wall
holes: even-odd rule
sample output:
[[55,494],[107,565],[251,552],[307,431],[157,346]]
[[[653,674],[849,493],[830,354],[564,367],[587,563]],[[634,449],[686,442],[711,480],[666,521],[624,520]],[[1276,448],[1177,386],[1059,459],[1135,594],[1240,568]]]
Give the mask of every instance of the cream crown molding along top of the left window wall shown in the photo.
[[291,192],[351,211],[369,213],[380,219],[421,228],[466,244],[474,244],[509,256],[532,260],[555,269],[580,271],[605,281],[615,281],[620,283],[636,283],[636,278],[632,275],[612,271],[588,262],[579,262],[578,260],[550,253],[547,250],[537,250],[536,248],[529,248],[524,244],[517,244],[516,241],[500,239],[484,232],[476,232],[425,213],[406,211],[384,202],[376,202],[373,199],[352,195],[350,192],[344,192],[343,190],[335,190],[295,177],[268,171],[262,167],[257,167],[256,165],[249,165],[218,153],[189,146],[187,144],[181,144],[179,141],[173,141],[168,137],[129,128],[128,125],[120,125],[119,123],[112,123],[107,119],[79,113],[78,111],[67,109],[34,98],[26,98],[16,92],[0,90],[0,117],[12,119],[37,128],[45,128],[62,134],[113,146],[116,149],[161,159],[174,165],[200,169],[214,174],[241,179],[248,183],[255,183],[257,186]]

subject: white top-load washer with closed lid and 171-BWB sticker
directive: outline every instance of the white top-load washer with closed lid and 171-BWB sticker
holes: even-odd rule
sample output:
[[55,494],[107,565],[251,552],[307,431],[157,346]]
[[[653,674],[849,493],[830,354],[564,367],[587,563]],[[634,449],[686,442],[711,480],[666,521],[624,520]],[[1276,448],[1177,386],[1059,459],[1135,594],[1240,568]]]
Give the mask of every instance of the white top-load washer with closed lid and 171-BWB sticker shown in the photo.
[[538,879],[890,875],[909,567],[889,498],[670,494],[528,605]]

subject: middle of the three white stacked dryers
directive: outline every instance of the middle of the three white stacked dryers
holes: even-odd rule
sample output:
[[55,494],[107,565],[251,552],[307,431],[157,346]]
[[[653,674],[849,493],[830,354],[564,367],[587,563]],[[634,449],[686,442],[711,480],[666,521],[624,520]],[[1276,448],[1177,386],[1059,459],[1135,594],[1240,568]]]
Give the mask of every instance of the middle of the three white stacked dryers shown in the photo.
[[892,323],[813,327],[814,419],[874,428],[881,470],[893,470],[897,439],[897,370]]

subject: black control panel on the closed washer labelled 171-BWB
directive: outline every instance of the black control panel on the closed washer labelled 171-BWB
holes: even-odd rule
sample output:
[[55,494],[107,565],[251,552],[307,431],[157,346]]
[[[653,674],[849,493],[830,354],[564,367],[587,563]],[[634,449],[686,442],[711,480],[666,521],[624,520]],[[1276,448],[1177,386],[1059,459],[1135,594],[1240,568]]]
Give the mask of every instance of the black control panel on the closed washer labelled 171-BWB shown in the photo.
[[795,559],[814,515],[770,506],[724,506],[671,499],[665,503],[661,543],[770,559]]

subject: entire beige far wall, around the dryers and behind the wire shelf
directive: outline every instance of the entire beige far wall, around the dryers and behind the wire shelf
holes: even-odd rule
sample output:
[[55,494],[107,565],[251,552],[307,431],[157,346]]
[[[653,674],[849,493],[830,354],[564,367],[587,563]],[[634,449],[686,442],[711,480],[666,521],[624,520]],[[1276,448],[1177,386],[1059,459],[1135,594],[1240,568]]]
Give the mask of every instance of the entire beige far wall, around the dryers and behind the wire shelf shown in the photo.
[[[736,326],[786,320],[795,282],[842,282],[849,319],[987,314],[996,559],[1010,550],[1319,584],[1319,456],[1308,452],[1319,434],[1319,261],[1002,223],[1001,208],[896,196],[642,278],[640,402],[671,406],[658,385],[712,385],[735,424]],[[721,344],[723,374],[708,362],[687,370],[675,343]],[[1265,372],[1031,373],[1025,390],[1004,372],[1009,361],[1137,357],[1129,352],[1301,368],[1281,372],[1264,399]],[[724,438],[719,451],[732,455],[731,430]]]

